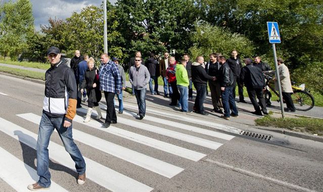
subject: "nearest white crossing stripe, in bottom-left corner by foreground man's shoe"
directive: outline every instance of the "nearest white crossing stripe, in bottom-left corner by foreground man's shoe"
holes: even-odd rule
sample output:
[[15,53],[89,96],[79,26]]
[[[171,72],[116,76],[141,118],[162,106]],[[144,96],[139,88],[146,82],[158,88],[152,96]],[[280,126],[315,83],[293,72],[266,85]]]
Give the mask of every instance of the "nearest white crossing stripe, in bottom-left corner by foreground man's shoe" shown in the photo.
[[[38,181],[36,170],[0,147],[0,178],[17,191],[29,191],[27,186]],[[1,190],[1,189],[0,189]],[[68,191],[52,181],[47,191]]]

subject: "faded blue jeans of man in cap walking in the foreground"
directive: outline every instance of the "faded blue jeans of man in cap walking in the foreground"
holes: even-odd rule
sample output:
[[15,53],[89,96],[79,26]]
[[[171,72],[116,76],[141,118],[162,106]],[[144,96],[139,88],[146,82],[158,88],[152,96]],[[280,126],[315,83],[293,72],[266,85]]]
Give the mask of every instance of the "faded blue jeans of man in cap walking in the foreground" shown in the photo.
[[57,130],[65,150],[70,154],[75,162],[75,169],[78,174],[85,173],[85,161],[81,152],[77,148],[72,137],[72,125],[68,128],[63,126],[64,117],[49,117],[42,114],[38,138],[37,138],[37,174],[39,175],[38,184],[43,187],[51,186],[51,173],[49,171],[49,153],[48,146],[54,128]]

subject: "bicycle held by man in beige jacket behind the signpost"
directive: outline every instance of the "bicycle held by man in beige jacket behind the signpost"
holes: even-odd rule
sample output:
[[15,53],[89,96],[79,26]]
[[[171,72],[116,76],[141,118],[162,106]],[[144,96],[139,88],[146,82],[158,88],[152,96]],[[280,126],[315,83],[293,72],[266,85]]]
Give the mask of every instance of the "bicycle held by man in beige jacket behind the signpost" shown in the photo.
[[[264,98],[266,101],[267,106],[271,106],[270,98],[271,98],[271,92],[272,90],[278,97],[279,93],[274,89],[272,86],[272,77],[269,75],[265,75],[266,78],[266,86],[264,90]],[[293,88],[293,94],[291,95],[295,109],[298,111],[308,111],[314,107],[314,97],[310,93],[308,89],[305,88],[305,84],[301,84],[299,86],[295,85],[295,81],[291,81],[292,88]],[[270,89],[270,90],[269,90]],[[277,102],[280,102],[280,100],[277,100]],[[285,101],[283,101],[285,103]]]

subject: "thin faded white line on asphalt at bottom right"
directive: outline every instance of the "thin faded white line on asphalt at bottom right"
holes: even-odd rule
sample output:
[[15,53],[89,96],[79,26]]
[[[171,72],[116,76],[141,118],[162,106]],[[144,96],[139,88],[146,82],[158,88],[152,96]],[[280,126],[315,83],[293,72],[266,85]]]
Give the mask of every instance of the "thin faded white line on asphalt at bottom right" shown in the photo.
[[210,162],[210,163],[214,163],[214,164],[218,165],[219,167],[222,167],[222,168],[225,168],[225,169],[230,169],[230,170],[233,170],[233,171],[237,171],[239,173],[246,174],[246,175],[249,175],[251,177],[264,179],[264,180],[267,180],[269,182],[272,182],[272,183],[275,183],[275,184],[278,184],[278,185],[286,186],[288,188],[293,188],[293,189],[296,189],[296,190],[302,190],[302,191],[308,191],[308,192],[315,192],[315,190],[312,190],[312,189],[309,189],[309,188],[305,188],[305,187],[302,187],[302,186],[299,186],[299,185],[296,185],[296,184],[292,184],[292,183],[288,183],[288,182],[281,181],[281,180],[278,180],[278,179],[274,179],[274,178],[271,178],[271,177],[267,177],[265,175],[261,175],[261,174],[254,173],[254,172],[251,172],[251,171],[248,171],[248,170],[244,170],[244,169],[241,169],[241,168],[238,168],[238,167],[234,167],[232,165],[227,165],[227,164],[224,164],[224,163],[221,163],[221,162],[218,162],[218,161],[213,161],[211,159],[206,159],[205,161]]

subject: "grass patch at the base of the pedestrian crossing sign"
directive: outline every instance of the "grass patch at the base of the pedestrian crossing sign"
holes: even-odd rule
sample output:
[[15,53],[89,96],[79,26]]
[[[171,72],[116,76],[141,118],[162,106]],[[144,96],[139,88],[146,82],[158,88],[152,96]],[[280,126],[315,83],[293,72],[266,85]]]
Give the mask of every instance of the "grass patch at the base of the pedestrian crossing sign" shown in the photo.
[[293,131],[323,135],[323,119],[297,116],[297,118],[274,118],[266,115],[255,120],[256,125],[287,128]]

